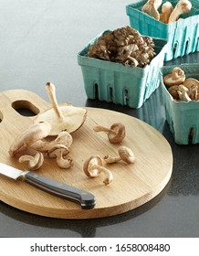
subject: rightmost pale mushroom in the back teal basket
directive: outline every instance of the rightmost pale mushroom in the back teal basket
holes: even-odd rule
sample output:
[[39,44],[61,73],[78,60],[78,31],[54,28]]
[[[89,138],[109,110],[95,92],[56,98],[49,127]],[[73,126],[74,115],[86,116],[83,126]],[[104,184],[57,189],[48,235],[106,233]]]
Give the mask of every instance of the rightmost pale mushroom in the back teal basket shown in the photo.
[[189,0],[180,0],[175,5],[171,16],[169,17],[168,23],[177,21],[179,16],[189,13],[192,9],[192,3]]

